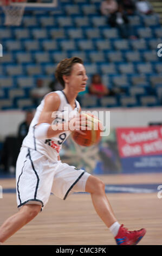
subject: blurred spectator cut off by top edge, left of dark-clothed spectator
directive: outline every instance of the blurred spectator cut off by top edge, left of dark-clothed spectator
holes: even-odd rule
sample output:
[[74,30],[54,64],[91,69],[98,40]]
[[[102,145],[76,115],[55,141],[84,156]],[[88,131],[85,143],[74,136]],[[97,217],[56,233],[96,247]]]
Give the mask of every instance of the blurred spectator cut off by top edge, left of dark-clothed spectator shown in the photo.
[[108,16],[118,10],[118,3],[116,0],[105,0],[101,3],[101,14]]

